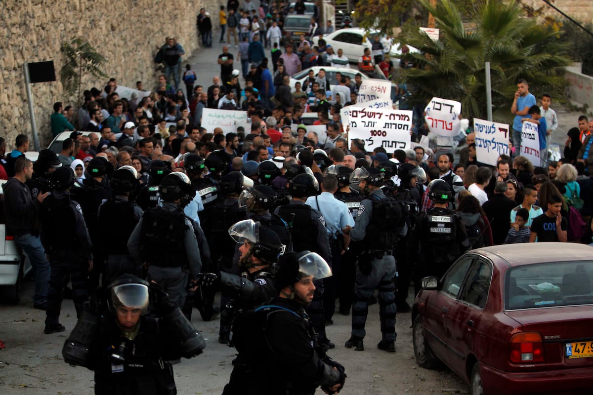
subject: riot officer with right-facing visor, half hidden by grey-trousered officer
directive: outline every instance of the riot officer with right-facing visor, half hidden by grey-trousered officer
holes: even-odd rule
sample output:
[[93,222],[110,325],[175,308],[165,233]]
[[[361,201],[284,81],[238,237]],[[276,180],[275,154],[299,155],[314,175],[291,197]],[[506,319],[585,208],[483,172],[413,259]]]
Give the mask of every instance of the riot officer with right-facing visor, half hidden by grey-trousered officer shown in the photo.
[[407,205],[409,217],[406,220],[408,232],[402,236],[396,251],[397,277],[396,277],[396,305],[397,311],[409,312],[407,303],[408,288],[412,280],[412,268],[416,258],[416,244],[412,242],[412,232],[416,226],[417,216],[420,213],[420,194],[417,185],[426,182],[424,169],[412,163],[403,163],[397,169],[400,185],[393,191],[397,201]]

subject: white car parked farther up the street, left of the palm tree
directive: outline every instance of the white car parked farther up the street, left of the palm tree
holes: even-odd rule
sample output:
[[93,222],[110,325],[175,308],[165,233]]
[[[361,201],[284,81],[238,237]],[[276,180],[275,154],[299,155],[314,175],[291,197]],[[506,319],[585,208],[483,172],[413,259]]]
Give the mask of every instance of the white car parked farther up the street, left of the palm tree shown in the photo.
[[[372,41],[369,37],[374,37],[378,34],[377,31],[369,31],[368,33],[361,27],[348,27],[334,31],[333,33],[324,34],[323,39],[326,40],[326,45],[331,45],[334,49],[334,53],[337,50],[342,49],[344,56],[352,63],[358,63],[358,58],[365,52],[365,48],[371,49]],[[385,40],[381,42],[384,43]],[[313,45],[319,44],[319,37],[313,38]],[[414,47],[408,46],[410,52],[419,52]],[[393,62],[393,67],[398,68],[400,66],[400,60],[397,59],[396,55],[401,54],[401,44],[393,43],[389,48],[389,56]]]

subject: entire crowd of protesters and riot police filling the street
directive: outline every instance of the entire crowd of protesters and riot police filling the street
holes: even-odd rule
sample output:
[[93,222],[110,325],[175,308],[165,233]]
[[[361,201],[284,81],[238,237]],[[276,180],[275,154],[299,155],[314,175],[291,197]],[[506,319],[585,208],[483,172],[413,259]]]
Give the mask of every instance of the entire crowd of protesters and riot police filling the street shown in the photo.
[[[186,68],[183,81],[193,92],[187,99],[179,87],[183,48],[168,38],[160,62],[169,69],[153,94],[120,98],[111,78],[103,91],[84,92],[76,117],[56,102],[53,134],[84,131],[72,131],[59,154],[44,149],[32,163],[24,155],[27,136],[17,136],[7,155],[0,138],[7,231],[34,267],[33,307],[46,311],[45,333],[64,331],[60,305],[71,282],[79,322],[64,355],[95,371],[97,393],[174,388],[171,364],[204,348],[190,323],[195,308],[203,320],[219,317],[218,341],[237,348],[225,394],[313,393],[318,386],[337,393],[345,370],[327,354],[336,346],[330,340],[336,312],[352,314],[346,348],[363,351],[368,306],[378,301],[377,347],[395,352],[396,313],[410,311],[412,281],[417,292],[423,277],[440,277],[465,251],[592,242],[586,117],[569,131],[565,158],[546,166],[521,155],[501,155],[495,168],[480,163],[468,125],[460,130],[467,147],[457,164],[452,149],[367,152],[364,140],[348,139],[339,115],[342,103],[355,104],[360,76],[340,78],[343,89],[334,90],[320,70],[291,92],[301,48],[287,45],[274,62],[280,78],[273,76],[263,49],[253,50],[254,43],[263,46],[257,31],[264,29],[253,30],[259,10],[248,4],[253,34],[239,32],[241,63],[244,53],[251,63],[249,72],[242,68],[245,88],[225,46],[211,86],[195,85],[196,73]],[[231,22],[238,2],[227,9],[221,8],[221,25],[235,36],[231,30],[243,26],[243,18]],[[209,15],[200,15],[208,47]],[[282,23],[270,21],[266,40],[274,47]],[[372,56],[376,62],[378,53]],[[142,91],[142,83],[136,88]],[[535,114],[531,107],[518,100],[512,111],[523,117]],[[203,108],[246,110],[250,130],[207,130]],[[302,124],[304,111],[327,125],[325,141]],[[177,343],[151,349],[171,333]],[[105,344],[121,345],[105,351]],[[143,352],[134,354],[135,347]],[[270,364],[274,358],[291,368]],[[264,386],[253,374],[263,366],[272,372]]]

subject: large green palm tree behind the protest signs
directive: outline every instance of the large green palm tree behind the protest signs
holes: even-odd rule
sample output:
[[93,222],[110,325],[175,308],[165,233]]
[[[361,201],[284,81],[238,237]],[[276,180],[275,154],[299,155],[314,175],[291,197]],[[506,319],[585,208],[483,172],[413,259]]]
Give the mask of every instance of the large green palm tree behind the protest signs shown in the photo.
[[468,12],[466,23],[451,0],[441,0],[437,7],[420,2],[435,17],[440,37],[431,40],[415,21],[403,27],[401,42],[421,52],[399,56],[417,66],[401,73],[402,82],[412,88],[413,103],[454,99],[461,102],[465,117],[485,118],[485,62],[490,62],[494,107],[511,106],[520,78],[532,92],[563,97],[562,68],[571,60],[560,40],[562,32],[522,18],[517,2],[483,0]]

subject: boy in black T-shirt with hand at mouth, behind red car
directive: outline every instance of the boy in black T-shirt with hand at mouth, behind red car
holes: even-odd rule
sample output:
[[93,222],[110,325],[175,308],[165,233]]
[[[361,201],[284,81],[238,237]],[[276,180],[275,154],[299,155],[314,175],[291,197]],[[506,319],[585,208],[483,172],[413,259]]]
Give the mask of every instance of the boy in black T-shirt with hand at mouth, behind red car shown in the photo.
[[538,242],[566,242],[568,221],[560,215],[562,197],[551,195],[547,205],[547,211],[531,223],[530,243],[534,243],[536,238]]

